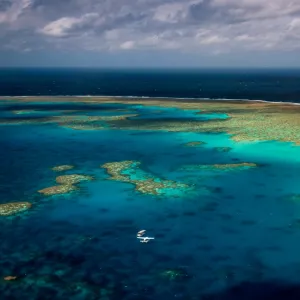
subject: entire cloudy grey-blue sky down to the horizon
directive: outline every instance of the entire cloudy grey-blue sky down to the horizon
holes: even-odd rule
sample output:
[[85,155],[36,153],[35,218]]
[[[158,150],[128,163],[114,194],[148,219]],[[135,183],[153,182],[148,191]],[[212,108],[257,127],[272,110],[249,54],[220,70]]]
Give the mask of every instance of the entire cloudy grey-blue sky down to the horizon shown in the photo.
[[0,0],[0,66],[300,66],[300,0]]

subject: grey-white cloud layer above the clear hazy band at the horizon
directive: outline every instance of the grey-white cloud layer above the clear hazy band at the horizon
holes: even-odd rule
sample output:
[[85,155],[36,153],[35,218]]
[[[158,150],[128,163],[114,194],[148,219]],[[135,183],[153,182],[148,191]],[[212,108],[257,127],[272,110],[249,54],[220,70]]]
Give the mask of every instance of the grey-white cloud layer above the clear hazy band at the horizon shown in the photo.
[[294,51],[299,29],[299,0],[0,1],[0,49],[19,51]]

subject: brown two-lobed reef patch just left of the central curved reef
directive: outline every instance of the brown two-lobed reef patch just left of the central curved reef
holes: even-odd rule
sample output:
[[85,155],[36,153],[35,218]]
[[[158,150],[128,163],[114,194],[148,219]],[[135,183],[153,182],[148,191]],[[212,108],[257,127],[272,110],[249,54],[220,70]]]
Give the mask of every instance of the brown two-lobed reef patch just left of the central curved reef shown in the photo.
[[61,175],[61,176],[57,176],[55,179],[58,185],[44,188],[42,190],[39,190],[38,192],[45,196],[68,194],[70,192],[78,190],[78,187],[75,186],[75,184],[80,183],[82,181],[91,181],[93,179],[94,177],[89,175],[81,175],[81,174]]

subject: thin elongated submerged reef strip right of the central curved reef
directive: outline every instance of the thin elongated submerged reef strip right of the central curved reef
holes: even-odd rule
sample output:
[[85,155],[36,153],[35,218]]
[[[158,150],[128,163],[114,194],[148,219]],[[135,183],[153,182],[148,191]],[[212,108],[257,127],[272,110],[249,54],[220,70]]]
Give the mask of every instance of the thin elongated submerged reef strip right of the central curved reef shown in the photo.
[[235,170],[245,170],[249,168],[255,168],[257,166],[258,165],[255,163],[243,162],[243,163],[236,163],[236,164],[187,165],[187,166],[183,166],[181,170],[235,171]]

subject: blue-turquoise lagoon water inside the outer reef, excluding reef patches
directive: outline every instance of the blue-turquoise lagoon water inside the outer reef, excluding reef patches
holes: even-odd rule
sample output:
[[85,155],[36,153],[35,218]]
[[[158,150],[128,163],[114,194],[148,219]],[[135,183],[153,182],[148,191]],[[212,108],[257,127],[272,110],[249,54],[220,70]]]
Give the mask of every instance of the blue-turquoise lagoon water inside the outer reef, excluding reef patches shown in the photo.
[[[39,105],[44,111],[30,117],[126,109],[145,122],[158,115],[205,121],[195,112],[158,107]],[[10,110],[16,109],[2,103],[0,116]],[[293,144],[236,143],[225,133],[85,131],[38,123],[2,124],[0,137],[0,201],[33,204],[25,213],[0,217],[3,299],[223,299],[214,295],[244,282],[299,284],[300,202],[292,196],[300,194],[300,148]],[[205,144],[185,146],[195,141]],[[133,180],[150,174],[190,189],[151,195],[133,183],[108,180],[101,165],[126,160],[141,163]],[[257,167],[184,169],[242,162]],[[65,164],[74,169],[51,170]],[[71,194],[37,192],[55,185],[56,176],[74,173],[95,180]],[[140,243],[141,229],[155,240]],[[177,276],[168,277],[170,270]]]

